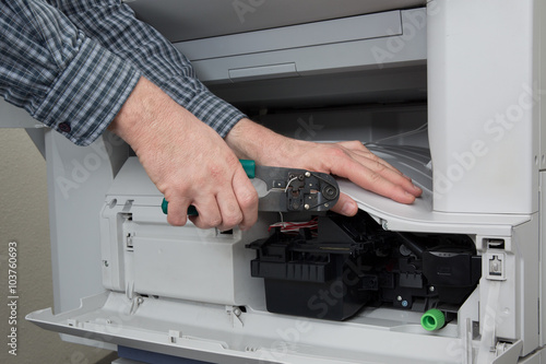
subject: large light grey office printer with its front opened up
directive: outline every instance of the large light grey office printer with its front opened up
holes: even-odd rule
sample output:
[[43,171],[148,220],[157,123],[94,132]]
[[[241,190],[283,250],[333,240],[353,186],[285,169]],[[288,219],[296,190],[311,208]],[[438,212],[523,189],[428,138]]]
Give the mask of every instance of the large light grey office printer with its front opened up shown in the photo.
[[360,140],[424,192],[339,180],[354,218],[175,227],[121,140],[34,129],[55,315],[28,320],[151,363],[546,363],[544,0],[127,2],[256,121]]

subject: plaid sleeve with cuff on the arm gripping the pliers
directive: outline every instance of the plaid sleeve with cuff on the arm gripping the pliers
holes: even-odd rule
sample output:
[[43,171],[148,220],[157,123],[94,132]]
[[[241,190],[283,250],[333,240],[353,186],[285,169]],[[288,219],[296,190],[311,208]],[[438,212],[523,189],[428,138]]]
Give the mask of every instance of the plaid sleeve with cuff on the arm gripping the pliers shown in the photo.
[[39,0],[0,0],[0,94],[79,145],[100,136],[140,71]]

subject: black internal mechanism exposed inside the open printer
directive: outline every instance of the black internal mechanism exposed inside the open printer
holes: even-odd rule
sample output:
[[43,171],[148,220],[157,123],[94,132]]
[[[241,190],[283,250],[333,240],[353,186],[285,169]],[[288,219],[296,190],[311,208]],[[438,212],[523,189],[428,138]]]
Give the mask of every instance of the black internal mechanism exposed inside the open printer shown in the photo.
[[482,258],[456,234],[384,231],[366,212],[272,225],[252,277],[263,278],[271,313],[344,320],[365,306],[444,313],[476,287]]

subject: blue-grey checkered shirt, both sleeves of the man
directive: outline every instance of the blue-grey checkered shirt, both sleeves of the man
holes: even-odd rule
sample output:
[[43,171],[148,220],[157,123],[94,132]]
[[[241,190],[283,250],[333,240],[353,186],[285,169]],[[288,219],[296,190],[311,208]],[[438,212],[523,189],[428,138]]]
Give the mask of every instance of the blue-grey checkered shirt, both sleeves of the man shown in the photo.
[[97,139],[141,75],[222,137],[245,117],[119,0],[0,0],[0,94],[79,145]]

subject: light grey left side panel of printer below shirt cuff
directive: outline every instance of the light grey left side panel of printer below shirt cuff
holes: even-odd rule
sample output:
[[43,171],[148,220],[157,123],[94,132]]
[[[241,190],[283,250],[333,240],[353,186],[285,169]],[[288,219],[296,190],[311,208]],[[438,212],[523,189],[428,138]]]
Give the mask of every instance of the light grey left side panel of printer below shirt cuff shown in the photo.
[[104,290],[98,212],[128,146],[110,133],[78,146],[49,130],[46,155],[54,298],[60,313]]

